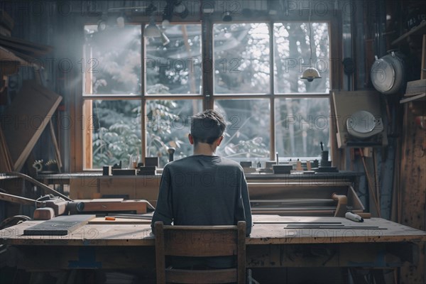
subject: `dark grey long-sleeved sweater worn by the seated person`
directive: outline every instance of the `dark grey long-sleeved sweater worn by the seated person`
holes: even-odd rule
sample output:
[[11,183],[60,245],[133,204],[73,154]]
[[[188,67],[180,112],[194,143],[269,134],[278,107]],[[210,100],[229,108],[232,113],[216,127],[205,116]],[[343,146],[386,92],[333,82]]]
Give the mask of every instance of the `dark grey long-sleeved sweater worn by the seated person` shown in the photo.
[[226,158],[192,155],[165,165],[156,221],[164,224],[219,226],[246,221],[251,233],[251,207],[244,171]]

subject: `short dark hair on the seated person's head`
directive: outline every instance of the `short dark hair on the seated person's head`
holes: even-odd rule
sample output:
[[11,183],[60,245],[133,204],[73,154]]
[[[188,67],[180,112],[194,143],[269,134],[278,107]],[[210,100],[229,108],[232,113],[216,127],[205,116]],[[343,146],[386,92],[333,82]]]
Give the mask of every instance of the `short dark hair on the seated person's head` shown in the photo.
[[191,135],[195,144],[198,142],[212,144],[223,135],[225,128],[224,116],[214,109],[195,114],[191,119]]

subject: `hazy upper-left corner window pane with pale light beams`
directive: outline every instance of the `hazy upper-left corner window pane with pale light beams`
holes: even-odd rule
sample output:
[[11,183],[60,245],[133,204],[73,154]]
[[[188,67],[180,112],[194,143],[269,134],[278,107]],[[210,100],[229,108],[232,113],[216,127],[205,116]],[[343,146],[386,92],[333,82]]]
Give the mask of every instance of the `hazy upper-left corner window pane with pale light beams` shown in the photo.
[[141,94],[141,26],[85,26],[85,94]]

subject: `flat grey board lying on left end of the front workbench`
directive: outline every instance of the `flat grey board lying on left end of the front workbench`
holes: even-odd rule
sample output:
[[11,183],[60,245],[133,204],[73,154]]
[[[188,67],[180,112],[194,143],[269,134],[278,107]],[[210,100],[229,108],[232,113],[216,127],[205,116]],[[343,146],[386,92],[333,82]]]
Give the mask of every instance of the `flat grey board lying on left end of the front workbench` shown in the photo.
[[96,217],[95,215],[69,215],[58,216],[51,220],[31,226],[24,229],[23,234],[35,236],[66,236],[72,231],[84,226],[89,220]]

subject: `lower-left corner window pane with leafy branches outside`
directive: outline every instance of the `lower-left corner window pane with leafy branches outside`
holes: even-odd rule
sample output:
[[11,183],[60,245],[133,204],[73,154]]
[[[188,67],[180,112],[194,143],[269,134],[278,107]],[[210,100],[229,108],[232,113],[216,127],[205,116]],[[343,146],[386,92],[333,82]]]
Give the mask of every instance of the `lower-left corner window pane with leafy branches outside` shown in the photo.
[[92,117],[92,168],[120,161],[127,168],[130,155],[141,153],[141,102],[93,100]]

